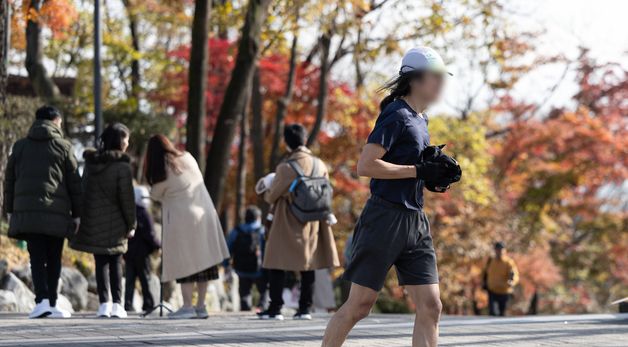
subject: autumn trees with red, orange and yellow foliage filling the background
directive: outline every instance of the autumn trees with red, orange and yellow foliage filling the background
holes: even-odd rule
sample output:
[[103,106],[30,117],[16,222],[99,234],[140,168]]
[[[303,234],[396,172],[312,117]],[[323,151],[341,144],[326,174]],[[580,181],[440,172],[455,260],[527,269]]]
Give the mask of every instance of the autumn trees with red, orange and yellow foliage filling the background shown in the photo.
[[[73,79],[73,95],[59,104],[68,115],[66,132],[87,143],[93,5],[10,6],[11,73],[28,76],[36,95],[52,100],[59,100],[52,81]],[[220,197],[225,229],[243,206],[259,202],[252,187],[284,154],[283,125],[300,122],[330,168],[334,231],[343,247],[369,195],[357,158],[383,97],[377,89],[392,77],[378,63],[430,45],[470,71],[457,77],[465,87],[453,111],[430,114],[429,123],[433,143],[447,144],[464,170],[448,193],[426,194],[445,311],[471,314],[486,305],[480,274],[497,240],[510,246],[520,267],[518,313],[603,311],[625,296],[628,71],[595,61],[584,48],[575,59],[545,55],[535,46],[543,33],[513,25],[517,14],[507,1],[104,6],[105,116],[132,128],[137,177],[143,141],[166,133],[207,158],[206,182]],[[576,72],[576,80],[565,81],[576,89],[568,106],[517,96],[522,79],[550,65]],[[383,298],[405,305],[392,276]]]

